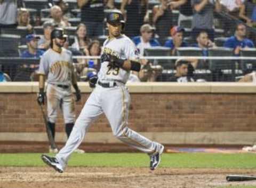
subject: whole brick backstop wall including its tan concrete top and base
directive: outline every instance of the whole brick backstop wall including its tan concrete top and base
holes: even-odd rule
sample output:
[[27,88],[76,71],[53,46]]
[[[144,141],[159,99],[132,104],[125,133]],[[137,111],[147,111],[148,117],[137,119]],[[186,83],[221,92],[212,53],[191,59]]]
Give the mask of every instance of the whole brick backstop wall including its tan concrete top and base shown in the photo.
[[[133,83],[129,127],[167,144],[252,144],[256,141],[256,87],[252,83]],[[79,115],[92,91],[79,83]],[[36,101],[38,83],[0,83],[0,141],[46,141]],[[57,141],[65,141],[61,114]],[[102,115],[86,142],[116,143]]]

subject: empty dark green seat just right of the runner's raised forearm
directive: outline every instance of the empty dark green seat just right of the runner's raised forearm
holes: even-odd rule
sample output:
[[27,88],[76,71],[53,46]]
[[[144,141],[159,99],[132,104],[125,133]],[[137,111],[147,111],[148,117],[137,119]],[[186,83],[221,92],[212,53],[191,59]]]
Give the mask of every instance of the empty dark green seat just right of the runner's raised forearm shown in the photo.
[[[150,47],[145,48],[145,56],[171,56],[171,48],[167,47]],[[163,69],[174,69],[174,62],[172,59],[149,59],[154,65],[161,65]]]

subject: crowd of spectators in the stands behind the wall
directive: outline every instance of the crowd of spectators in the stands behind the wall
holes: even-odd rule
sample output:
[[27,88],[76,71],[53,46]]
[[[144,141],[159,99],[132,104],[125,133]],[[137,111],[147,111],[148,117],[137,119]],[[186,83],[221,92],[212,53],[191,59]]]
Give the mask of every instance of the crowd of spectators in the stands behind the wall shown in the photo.
[[[20,46],[27,46],[17,47],[22,58],[40,58],[50,48],[54,27],[67,31],[65,47],[73,55],[99,56],[107,37],[105,15],[113,9],[125,15],[124,34],[133,40],[141,56],[150,47],[169,48],[171,56],[179,55],[180,48],[196,47],[202,49],[202,56],[209,56],[209,49],[226,47],[239,56],[241,50],[254,48],[256,41],[256,0],[40,0],[37,6],[38,2],[0,0],[0,40],[11,30],[11,34],[20,36]],[[218,37],[225,40],[217,44]],[[1,53],[5,45],[0,44],[0,57],[12,56]],[[99,59],[78,58],[74,62],[80,80],[100,67]],[[173,64],[175,71],[161,80],[165,67],[143,59],[142,71],[132,75],[131,81],[194,81],[193,71],[210,69],[205,60],[186,59]],[[29,69],[31,74],[37,66]],[[177,79],[187,74],[186,79]]]

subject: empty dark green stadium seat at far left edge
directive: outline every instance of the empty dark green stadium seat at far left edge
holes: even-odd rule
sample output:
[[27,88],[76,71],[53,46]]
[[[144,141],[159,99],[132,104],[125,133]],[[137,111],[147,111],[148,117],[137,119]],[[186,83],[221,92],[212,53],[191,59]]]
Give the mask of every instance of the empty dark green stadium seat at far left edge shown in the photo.
[[21,37],[18,35],[0,35],[0,56],[2,57],[19,57],[18,46]]

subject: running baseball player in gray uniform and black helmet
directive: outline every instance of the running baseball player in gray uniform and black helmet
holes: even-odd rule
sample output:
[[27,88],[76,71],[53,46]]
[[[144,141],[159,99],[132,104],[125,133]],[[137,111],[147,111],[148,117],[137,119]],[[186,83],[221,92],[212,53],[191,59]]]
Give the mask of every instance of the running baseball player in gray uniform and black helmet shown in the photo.
[[59,173],[63,172],[71,153],[83,141],[92,121],[102,113],[105,113],[117,139],[149,154],[151,170],[157,168],[164,150],[162,144],[153,142],[127,127],[130,95],[125,83],[130,71],[140,71],[139,53],[133,42],[121,34],[124,28],[121,12],[114,11],[107,15],[107,27],[109,37],[103,44],[99,78],[98,81],[95,78],[90,80],[95,84],[95,89],[77,118],[65,147],[55,157],[42,155],[44,163]]

